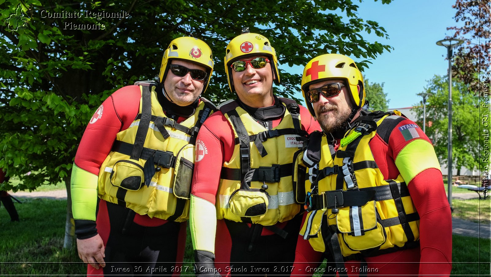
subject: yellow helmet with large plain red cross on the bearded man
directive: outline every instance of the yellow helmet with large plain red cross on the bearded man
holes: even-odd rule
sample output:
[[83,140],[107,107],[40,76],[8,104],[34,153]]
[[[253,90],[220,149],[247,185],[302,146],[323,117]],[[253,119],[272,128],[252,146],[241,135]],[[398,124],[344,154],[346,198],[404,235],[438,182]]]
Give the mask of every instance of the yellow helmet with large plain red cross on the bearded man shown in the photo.
[[[355,61],[345,55],[324,54],[311,59],[303,69],[302,95],[312,116],[315,116],[315,112],[312,103],[308,102],[306,98],[309,85],[320,83],[327,79],[345,79],[348,83],[351,100],[355,104],[354,108],[358,110],[365,105],[366,94],[363,86],[363,76]],[[359,93],[356,87],[357,84],[361,87]]]

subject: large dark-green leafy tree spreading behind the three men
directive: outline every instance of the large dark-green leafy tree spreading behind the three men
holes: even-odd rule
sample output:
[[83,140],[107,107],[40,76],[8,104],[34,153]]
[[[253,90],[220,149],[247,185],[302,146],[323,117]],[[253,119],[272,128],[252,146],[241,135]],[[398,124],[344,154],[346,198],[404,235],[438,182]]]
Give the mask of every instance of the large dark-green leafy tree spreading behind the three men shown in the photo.
[[[21,179],[14,190],[61,180],[68,188],[93,111],[117,88],[158,75],[164,49],[183,35],[212,48],[215,71],[206,97],[217,102],[234,97],[222,57],[243,27],[270,38],[280,69],[325,53],[353,55],[367,66],[390,47],[363,39],[363,30],[387,34],[358,18],[357,8],[352,0],[0,0],[0,167]],[[276,92],[293,97],[301,72],[281,73]]]

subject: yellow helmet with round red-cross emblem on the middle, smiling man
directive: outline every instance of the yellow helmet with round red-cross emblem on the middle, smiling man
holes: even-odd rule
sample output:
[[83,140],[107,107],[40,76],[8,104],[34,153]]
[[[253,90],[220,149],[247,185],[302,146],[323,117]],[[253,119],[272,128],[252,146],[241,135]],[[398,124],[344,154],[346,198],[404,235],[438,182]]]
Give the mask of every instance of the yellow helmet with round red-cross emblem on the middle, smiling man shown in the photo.
[[251,54],[265,55],[272,58],[273,62],[271,63],[271,70],[273,71],[273,76],[276,77],[274,83],[280,83],[278,58],[276,57],[276,52],[274,52],[274,48],[271,46],[270,41],[263,35],[249,33],[249,31],[246,30],[228,43],[225,57],[223,58],[225,61],[225,75],[227,75],[228,86],[232,92],[235,92],[235,88],[234,83],[232,82],[232,70],[230,64],[241,56],[248,56]]

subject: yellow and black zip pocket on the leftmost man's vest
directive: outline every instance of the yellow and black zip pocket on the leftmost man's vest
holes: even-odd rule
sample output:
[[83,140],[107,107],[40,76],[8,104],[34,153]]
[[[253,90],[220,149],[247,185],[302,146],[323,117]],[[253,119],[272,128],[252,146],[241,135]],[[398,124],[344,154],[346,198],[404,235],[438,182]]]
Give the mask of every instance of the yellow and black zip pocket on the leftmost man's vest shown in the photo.
[[137,191],[145,181],[143,166],[139,161],[119,160],[109,176],[111,184],[129,191]]

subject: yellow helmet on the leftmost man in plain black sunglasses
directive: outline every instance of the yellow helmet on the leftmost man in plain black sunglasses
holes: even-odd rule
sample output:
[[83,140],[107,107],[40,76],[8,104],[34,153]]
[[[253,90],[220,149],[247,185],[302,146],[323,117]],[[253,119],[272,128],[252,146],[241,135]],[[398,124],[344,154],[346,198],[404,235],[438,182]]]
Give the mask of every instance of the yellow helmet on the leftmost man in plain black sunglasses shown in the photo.
[[165,77],[167,76],[170,64],[168,61],[171,59],[196,62],[204,65],[208,69],[208,79],[205,79],[203,91],[201,92],[204,93],[210,83],[210,78],[213,73],[213,55],[208,44],[200,39],[190,36],[178,37],[171,41],[162,57],[162,65],[160,66],[159,73],[159,80],[161,83],[164,82]]

